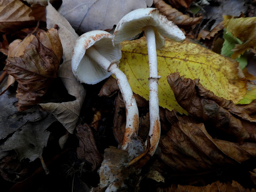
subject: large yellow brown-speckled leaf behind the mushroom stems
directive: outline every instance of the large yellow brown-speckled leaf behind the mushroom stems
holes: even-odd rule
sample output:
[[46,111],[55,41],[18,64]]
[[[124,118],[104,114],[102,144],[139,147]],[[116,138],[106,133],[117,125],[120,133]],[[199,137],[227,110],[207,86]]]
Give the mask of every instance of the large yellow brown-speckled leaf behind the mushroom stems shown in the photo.
[[[148,51],[146,39],[121,43],[122,59],[119,68],[126,74],[133,92],[148,100]],[[246,81],[238,77],[238,63],[198,44],[176,43],[166,39],[164,50],[157,51],[159,105],[168,110],[186,113],[175,100],[167,75],[180,72],[186,78],[200,79],[201,84],[219,97],[238,102],[246,91]]]

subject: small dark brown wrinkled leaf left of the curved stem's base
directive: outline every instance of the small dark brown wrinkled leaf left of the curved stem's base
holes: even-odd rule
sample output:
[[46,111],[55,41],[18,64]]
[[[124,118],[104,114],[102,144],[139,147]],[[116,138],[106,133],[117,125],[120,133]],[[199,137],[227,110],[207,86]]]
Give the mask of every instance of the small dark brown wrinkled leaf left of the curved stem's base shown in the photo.
[[102,162],[102,156],[97,150],[94,136],[91,128],[87,125],[79,125],[76,127],[76,136],[79,139],[79,146],[76,149],[76,153],[79,159],[85,159],[91,165],[91,171],[94,171],[100,166]]

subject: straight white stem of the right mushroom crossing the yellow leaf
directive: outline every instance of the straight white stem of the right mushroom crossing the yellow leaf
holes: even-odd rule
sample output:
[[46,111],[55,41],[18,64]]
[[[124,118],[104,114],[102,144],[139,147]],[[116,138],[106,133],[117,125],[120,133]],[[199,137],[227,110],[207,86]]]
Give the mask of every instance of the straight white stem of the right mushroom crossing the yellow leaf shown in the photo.
[[159,117],[159,101],[158,101],[158,69],[155,32],[153,26],[145,26],[146,42],[149,57],[149,118],[150,118],[150,155],[153,156],[160,139],[160,117]]

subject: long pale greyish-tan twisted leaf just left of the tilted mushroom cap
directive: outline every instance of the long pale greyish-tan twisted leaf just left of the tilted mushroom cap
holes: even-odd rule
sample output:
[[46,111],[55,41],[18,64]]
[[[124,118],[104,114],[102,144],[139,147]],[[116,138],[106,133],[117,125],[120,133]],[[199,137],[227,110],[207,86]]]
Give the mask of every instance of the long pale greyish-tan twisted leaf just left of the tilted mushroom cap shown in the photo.
[[75,44],[78,35],[70,26],[69,22],[61,16],[55,8],[48,4],[47,12],[47,27],[54,25],[59,27],[59,37],[63,47],[63,64],[60,65],[58,76],[62,79],[68,93],[76,97],[75,101],[63,103],[40,103],[42,110],[52,112],[60,123],[70,132],[73,133],[76,123],[79,119],[80,109],[84,102],[85,90],[82,84],[75,78],[71,69],[71,50]]

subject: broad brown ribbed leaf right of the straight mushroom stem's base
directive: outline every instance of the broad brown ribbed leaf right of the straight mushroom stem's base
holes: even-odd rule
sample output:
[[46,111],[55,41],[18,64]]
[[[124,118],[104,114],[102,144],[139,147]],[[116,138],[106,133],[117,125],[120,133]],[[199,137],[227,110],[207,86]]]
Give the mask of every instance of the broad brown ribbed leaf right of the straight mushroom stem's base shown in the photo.
[[256,143],[238,145],[213,139],[203,123],[176,123],[160,139],[161,159],[172,169],[183,172],[209,171],[241,163],[256,155]]

